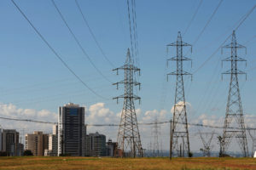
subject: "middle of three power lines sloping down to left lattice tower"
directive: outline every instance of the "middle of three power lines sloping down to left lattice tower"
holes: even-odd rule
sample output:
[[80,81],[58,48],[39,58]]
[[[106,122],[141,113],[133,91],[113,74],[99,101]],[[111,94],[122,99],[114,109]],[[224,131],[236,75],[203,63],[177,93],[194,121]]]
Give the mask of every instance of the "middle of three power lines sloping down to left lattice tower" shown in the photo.
[[105,77],[105,76],[103,75],[102,71],[100,71],[100,70],[96,67],[96,65],[93,63],[92,59],[90,59],[90,56],[85,52],[85,50],[84,50],[82,44],[79,42],[79,39],[78,39],[78,38],[75,36],[75,34],[73,33],[73,31],[72,31],[72,29],[70,28],[70,26],[68,26],[67,21],[65,20],[63,14],[61,14],[61,11],[60,11],[60,9],[57,7],[55,1],[54,1],[54,0],[51,0],[51,2],[53,3],[53,5],[54,5],[55,9],[57,10],[58,14],[60,14],[61,20],[65,23],[65,26],[67,26],[67,29],[68,29],[68,31],[71,33],[71,35],[73,36],[75,42],[77,42],[77,44],[79,45],[79,48],[82,50],[84,56],[90,61],[90,64],[96,69],[96,71],[97,71],[100,75],[102,75],[102,77],[103,77],[105,80],[107,80],[108,82],[112,83],[107,77]]

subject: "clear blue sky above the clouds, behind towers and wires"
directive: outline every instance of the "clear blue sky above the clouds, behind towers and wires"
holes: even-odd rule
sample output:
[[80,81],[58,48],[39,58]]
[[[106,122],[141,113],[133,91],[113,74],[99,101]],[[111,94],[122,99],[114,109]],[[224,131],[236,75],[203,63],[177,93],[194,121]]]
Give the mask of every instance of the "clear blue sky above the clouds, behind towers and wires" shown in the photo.
[[[189,31],[183,37],[184,42],[193,45],[190,56],[193,68],[190,69],[189,63],[185,64],[187,71],[194,72],[232,33],[237,20],[255,5],[253,0],[224,0],[199,41],[193,44],[218,2],[203,1]],[[0,2],[0,102],[16,105],[17,108],[54,112],[67,102],[88,107],[103,102],[111,111],[121,111],[122,102],[116,105],[111,98],[122,94],[122,88],[117,91],[84,58],[52,3],[49,0],[16,3],[73,71],[108,100],[100,99],[84,88],[55,58],[13,3],[4,0]],[[96,47],[74,1],[56,0],[55,3],[99,70],[112,82],[121,80],[123,77],[115,76],[113,67],[108,65]],[[166,44],[176,41],[177,31],[183,35],[199,3],[200,0],[137,1],[139,65],[142,69],[142,90],[139,92],[142,105],[137,105],[137,108],[141,108],[142,112],[160,109],[170,111],[174,105],[175,78],[170,77],[169,82],[166,82],[166,73],[173,71],[175,65],[166,69]],[[126,1],[79,0],[79,4],[108,59],[117,67],[123,65],[126,50],[130,47]],[[256,11],[253,11],[236,31],[237,41],[241,44],[247,42],[247,55],[241,55],[247,59],[247,67],[240,65],[241,70],[245,71],[256,64],[255,17]],[[175,51],[170,54],[175,54]],[[229,55],[229,52],[221,55],[219,50],[193,75],[193,82],[189,78],[185,79],[186,101],[192,105],[189,118],[202,114],[224,116],[229,77],[221,81],[221,72],[228,70],[229,65],[224,64],[222,68],[220,60]],[[250,115],[255,115],[255,71],[247,71],[247,82],[245,77],[240,77],[243,111]],[[166,117],[169,119],[171,113]]]

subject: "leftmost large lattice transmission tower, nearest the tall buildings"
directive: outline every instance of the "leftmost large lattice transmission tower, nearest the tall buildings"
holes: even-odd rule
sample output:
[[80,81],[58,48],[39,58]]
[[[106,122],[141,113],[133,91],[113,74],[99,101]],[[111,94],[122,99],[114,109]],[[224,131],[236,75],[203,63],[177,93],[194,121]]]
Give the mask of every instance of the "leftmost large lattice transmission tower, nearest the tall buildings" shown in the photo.
[[119,84],[124,84],[125,94],[113,98],[117,99],[117,102],[119,98],[124,99],[117,139],[118,149],[121,150],[122,157],[143,156],[143,147],[137,126],[137,116],[134,106],[134,100],[140,100],[141,98],[133,94],[133,88],[135,86],[140,87],[141,85],[140,82],[135,80],[135,74],[137,72],[140,73],[140,69],[134,65],[129,48],[125,59],[125,65],[116,68],[113,71],[117,71],[117,74],[119,74],[119,70],[125,72],[125,80],[113,83],[113,85],[116,85],[117,88],[119,88]]

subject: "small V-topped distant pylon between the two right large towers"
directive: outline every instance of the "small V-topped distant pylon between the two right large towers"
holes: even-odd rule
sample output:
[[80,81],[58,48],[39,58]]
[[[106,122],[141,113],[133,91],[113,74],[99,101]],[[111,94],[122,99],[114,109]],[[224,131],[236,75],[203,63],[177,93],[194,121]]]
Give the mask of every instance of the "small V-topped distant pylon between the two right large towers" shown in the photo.
[[201,142],[204,146],[204,148],[201,149],[203,151],[203,156],[211,156],[211,150],[213,148],[213,145],[211,145],[211,143],[214,133],[214,131],[211,133],[202,133],[201,131],[199,131]]

